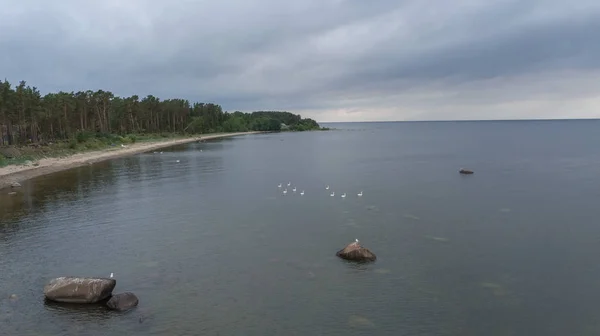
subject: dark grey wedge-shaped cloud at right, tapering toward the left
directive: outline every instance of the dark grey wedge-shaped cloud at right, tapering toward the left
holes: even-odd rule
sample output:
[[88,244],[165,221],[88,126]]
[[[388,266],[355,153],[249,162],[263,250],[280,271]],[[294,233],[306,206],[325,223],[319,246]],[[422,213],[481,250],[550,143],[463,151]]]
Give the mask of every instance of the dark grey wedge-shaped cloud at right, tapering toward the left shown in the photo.
[[510,76],[545,69],[597,69],[600,15],[578,22],[534,26],[481,41],[427,52],[404,62],[388,62],[358,75],[367,80],[390,78],[464,80]]

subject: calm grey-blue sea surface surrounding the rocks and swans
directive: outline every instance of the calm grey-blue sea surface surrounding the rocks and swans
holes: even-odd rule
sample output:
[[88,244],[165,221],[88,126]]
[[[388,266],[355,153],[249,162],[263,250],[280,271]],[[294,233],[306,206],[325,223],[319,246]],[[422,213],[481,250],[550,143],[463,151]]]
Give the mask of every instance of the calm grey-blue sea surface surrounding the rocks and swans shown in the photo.
[[[600,122],[333,126],[0,196],[0,334],[600,334]],[[375,263],[335,257],[355,238]],[[137,309],[44,303],[52,277],[111,272]]]

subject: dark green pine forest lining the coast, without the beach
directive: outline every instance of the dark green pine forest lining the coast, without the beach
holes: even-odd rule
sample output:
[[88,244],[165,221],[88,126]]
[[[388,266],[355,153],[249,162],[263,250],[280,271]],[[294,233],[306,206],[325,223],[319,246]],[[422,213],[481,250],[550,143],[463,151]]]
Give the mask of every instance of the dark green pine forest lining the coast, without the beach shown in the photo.
[[69,140],[83,133],[158,134],[307,131],[319,124],[290,112],[224,112],[213,103],[148,95],[119,97],[109,91],[42,95],[36,87],[0,81],[0,145]]

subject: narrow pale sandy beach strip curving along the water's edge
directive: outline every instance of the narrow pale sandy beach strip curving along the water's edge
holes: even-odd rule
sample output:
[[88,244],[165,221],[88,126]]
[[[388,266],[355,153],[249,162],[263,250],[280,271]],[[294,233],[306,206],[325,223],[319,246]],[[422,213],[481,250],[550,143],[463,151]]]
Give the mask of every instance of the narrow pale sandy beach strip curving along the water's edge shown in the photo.
[[[38,176],[48,175],[71,168],[81,167],[86,164],[116,159],[119,157],[135,155],[155,149],[183,145],[196,141],[228,138],[240,135],[260,134],[264,132],[236,132],[221,133],[206,136],[195,136],[177,140],[150,141],[134,143],[127,147],[108,148],[99,151],[90,151],[69,155],[61,158],[45,158],[30,165],[10,165],[0,168],[0,190],[10,188],[14,182],[22,182]],[[33,165],[36,163],[37,165]]]

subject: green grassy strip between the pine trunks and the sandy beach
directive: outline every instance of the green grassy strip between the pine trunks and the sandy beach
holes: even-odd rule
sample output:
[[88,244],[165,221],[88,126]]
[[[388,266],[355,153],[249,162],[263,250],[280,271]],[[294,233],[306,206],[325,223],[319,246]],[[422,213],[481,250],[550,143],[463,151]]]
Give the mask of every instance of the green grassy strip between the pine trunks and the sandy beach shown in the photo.
[[34,162],[41,159],[67,157],[79,153],[105,150],[114,147],[118,148],[122,147],[121,145],[129,146],[135,143],[168,141],[209,135],[212,134],[182,135],[161,133],[129,134],[121,136],[115,134],[80,133],[69,141],[0,148],[0,168],[9,165],[28,165],[32,163],[35,165]]

